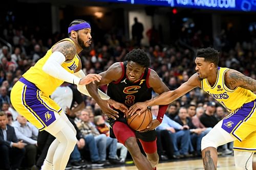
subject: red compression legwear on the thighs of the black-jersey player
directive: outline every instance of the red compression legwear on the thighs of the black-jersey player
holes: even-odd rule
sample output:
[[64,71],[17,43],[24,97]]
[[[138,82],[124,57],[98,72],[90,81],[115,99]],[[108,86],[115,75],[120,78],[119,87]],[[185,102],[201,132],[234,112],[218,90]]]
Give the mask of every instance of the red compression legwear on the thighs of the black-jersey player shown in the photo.
[[[113,125],[113,132],[114,132],[117,140],[124,145],[125,145],[125,141],[128,138],[135,137],[135,138],[139,138],[140,143],[141,143],[145,153],[152,154],[157,151],[156,135],[154,136],[155,131],[148,131],[148,132],[140,133],[140,132],[132,130],[128,125],[126,125],[122,122],[116,121]],[[145,139],[146,140],[145,141],[145,140],[143,140],[143,135],[150,136],[150,137],[146,137],[146,138],[147,139],[151,138],[153,140],[147,141],[147,139]]]

